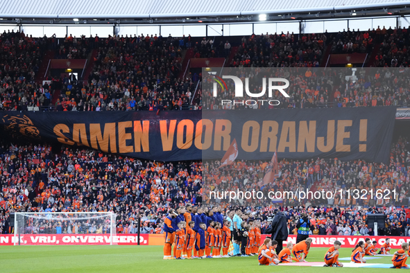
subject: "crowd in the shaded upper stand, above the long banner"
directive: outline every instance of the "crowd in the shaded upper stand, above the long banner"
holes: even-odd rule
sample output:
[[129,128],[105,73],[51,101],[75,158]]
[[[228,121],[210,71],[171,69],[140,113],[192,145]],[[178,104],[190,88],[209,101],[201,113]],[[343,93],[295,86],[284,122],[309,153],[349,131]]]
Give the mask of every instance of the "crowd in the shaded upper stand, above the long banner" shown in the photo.
[[[194,50],[194,58],[225,57],[232,59],[229,67],[300,67],[277,71],[289,75],[292,85],[287,89],[290,98],[275,94],[280,105],[259,105],[259,108],[306,107],[366,107],[396,105],[407,107],[407,29],[377,28],[368,31],[343,31],[308,35],[275,34],[243,37],[236,53],[227,40],[216,46],[214,40],[204,38],[193,42],[189,37],[134,35],[99,38],[76,38],[72,35],[58,43],[55,37],[33,38],[24,33],[3,33],[1,43],[0,88],[2,110],[37,110],[51,104],[55,89],[60,97],[51,109],[57,111],[105,110],[171,110],[223,108],[220,100],[232,98],[232,92],[207,101],[210,89],[202,91],[196,82],[198,75],[181,77],[182,53]],[[348,71],[327,69],[318,71],[321,55],[327,44],[336,53],[371,51],[371,44],[381,42],[376,67],[398,67],[398,70],[360,71],[356,82],[345,80]],[[349,42],[352,41],[352,42]],[[368,42],[366,42],[368,41]],[[340,44],[342,43],[342,44]],[[353,45],[350,45],[353,43]],[[357,45],[357,46],[355,46]],[[85,58],[89,49],[97,51],[92,73],[87,82],[70,81],[68,77],[53,78],[51,85],[33,82],[44,49],[55,48],[59,58]],[[8,50],[11,50],[11,54]],[[35,54],[28,54],[28,52]],[[339,52],[340,51],[340,52]],[[396,64],[397,60],[397,64]],[[18,65],[17,65],[18,64]],[[26,64],[26,65],[24,65]],[[294,75],[294,76],[293,76]],[[282,75],[283,76],[283,75]],[[259,87],[253,87],[253,89]],[[252,90],[252,88],[251,88]],[[256,91],[256,90],[255,90]],[[205,96],[206,98],[206,96]],[[225,105],[226,109],[254,109],[253,105]],[[50,108],[47,108],[50,109]]]

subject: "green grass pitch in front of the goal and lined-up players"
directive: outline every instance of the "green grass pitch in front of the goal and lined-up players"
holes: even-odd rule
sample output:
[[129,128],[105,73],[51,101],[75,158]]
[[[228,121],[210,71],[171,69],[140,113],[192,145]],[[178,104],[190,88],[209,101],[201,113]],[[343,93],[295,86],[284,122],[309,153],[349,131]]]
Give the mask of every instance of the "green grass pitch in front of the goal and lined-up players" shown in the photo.
[[[323,261],[327,247],[314,247],[307,261]],[[393,253],[395,250],[391,250]],[[352,249],[340,249],[348,257]],[[3,246],[0,247],[0,272],[386,272],[383,268],[259,266],[257,256],[207,258],[194,260],[163,260],[160,246]],[[341,261],[349,263],[349,261]],[[368,263],[389,263],[391,257]],[[391,270],[389,270],[391,271]]]

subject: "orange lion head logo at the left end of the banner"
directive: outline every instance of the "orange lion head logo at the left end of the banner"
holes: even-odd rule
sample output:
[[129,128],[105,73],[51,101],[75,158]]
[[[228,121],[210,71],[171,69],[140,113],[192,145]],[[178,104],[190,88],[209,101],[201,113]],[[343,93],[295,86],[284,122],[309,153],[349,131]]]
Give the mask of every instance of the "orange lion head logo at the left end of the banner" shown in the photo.
[[40,131],[35,127],[30,118],[26,115],[4,116],[3,123],[6,123],[6,129],[13,132],[13,136],[18,136],[16,132],[20,132],[24,136],[34,139],[40,139]]

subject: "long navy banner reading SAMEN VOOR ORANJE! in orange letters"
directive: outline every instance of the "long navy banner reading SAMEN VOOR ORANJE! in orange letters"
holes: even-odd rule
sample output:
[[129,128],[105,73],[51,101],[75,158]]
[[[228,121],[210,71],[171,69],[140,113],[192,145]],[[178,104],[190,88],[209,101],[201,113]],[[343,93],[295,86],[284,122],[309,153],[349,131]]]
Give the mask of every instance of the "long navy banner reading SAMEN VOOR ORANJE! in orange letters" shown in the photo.
[[313,157],[386,162],[395,107],[173,112],[1,112],[0,125],[31,136],[158,161]]

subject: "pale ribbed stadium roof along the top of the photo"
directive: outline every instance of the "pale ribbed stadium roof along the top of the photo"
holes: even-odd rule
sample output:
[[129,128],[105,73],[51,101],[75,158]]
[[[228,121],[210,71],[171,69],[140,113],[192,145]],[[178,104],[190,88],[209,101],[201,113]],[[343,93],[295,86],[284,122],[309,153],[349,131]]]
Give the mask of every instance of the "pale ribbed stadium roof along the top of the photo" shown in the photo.
[[0,0],[0,17],[127,19],[337,12],[409,6],[402,0]]

